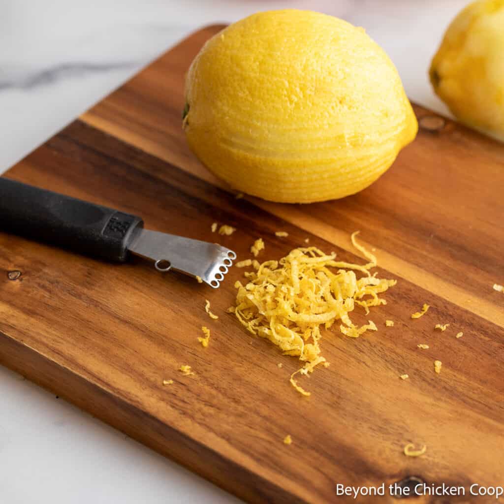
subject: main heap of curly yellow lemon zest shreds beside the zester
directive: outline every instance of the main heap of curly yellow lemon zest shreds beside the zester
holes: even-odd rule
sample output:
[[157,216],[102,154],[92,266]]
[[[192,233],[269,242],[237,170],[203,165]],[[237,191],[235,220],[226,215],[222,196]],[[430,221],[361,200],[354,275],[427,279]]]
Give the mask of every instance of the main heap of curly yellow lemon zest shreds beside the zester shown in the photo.
[[[369,321],[355,326],[349,313],[356,305],[366,313],[372,306],[386,304],[379,294],[396,284],[379,279],[369,269],[376,264],[372,254],[352,242],[369,263],[361,266],[336,261],[336,254],[325,254],[317,247],[295,248],[279,261],[266,261],[257,272],[246,272],[248,282],[237,281],[236,318],[254,335],[269,339],[286,355],[298,356],[306,364],[291,375],[290,383],[303,395],[295,374],[307,374],[326,359],[320,356],[321,329],[341,321],[340,331],[356,338],[365,331],[376,331]],[[336,270],[336,271],[335,271]],[[362,273],[357,278],[356,272]]]

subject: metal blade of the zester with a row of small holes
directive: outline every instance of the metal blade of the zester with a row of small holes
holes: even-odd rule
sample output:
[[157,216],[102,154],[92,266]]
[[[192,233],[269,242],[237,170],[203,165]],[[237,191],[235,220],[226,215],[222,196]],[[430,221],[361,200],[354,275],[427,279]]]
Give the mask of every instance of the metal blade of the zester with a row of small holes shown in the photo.
[[154,261],[158,271],[173,269],[200,277],[214,289],[219,287],[236,259],[232,250],[217,243],[147,229],[138,231],[128,249],[137,256]]

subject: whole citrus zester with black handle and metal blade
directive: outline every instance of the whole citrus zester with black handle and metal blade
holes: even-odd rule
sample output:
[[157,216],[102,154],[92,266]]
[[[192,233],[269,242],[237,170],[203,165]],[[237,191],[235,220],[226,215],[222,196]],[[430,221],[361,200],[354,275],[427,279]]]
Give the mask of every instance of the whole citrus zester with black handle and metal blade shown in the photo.
[[135,215],[0,177],[0,230],[79,254],[125,262],[130,254],[160,272],[179,271],[217,289],[236,254],[216,243],[144,229]]

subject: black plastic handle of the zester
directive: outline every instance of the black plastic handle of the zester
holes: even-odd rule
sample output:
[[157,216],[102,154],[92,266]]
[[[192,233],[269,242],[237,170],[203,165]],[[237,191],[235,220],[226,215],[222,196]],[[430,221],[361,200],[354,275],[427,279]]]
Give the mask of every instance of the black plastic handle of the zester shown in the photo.
[[0,230],[123,262],[142,227],[135,215],[0,177]]

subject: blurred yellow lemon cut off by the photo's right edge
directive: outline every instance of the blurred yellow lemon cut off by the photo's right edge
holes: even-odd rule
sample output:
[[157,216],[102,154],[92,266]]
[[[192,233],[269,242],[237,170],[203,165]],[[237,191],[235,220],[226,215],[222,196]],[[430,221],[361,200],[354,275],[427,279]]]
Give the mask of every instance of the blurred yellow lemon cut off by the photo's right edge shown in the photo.
[[480,0],[448,27],[430,81],[468,126],[504,140],[504,0]]

